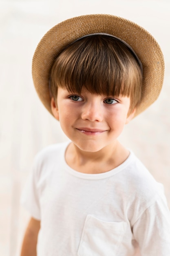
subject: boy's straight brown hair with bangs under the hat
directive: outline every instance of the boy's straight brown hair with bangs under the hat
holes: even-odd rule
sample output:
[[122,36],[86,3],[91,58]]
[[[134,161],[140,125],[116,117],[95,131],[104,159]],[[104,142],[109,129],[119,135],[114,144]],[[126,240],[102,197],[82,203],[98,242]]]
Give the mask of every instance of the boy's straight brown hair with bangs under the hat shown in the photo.
[[71,43],[57,56],[51,70],[50,88],[81,93],[130,97],[130,110],[141,100],[142,72],[132,51],[117,38],[93,35]]

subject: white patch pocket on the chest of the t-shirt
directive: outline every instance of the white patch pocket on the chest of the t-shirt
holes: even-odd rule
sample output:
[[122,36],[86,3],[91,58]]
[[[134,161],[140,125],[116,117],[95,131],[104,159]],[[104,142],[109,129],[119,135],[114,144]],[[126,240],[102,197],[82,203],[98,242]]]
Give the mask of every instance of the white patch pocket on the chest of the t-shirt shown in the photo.
[[107,222],[88,215],[77,255],[116,256],[126,225],[126,222]]

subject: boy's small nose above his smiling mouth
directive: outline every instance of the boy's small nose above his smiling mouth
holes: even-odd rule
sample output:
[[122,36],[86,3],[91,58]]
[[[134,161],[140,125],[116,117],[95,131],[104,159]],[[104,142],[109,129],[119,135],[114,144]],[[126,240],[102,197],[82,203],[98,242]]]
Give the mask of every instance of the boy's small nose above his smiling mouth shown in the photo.
[[82,119],[101,122],[103,120],[103,110],[101,102],[97,99],[86,102],[82,108]]

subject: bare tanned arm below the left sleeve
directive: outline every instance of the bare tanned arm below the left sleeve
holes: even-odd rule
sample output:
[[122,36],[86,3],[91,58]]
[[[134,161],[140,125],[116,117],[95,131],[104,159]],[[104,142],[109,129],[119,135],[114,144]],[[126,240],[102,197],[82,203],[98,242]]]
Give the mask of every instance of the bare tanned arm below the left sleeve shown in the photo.
[[34,218],[31,218],[24,235],[20,256],[36,256],[37,255],[36,247],[37,247],[39,230],[40,230],[40,220],[35,220]]

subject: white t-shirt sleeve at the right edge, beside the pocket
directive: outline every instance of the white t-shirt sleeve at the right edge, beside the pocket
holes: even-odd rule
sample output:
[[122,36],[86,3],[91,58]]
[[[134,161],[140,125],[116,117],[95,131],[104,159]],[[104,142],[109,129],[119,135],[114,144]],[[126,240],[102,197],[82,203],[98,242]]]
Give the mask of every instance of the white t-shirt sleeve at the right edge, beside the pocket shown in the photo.
[[161,196],[139,216],[132,227],[141,256],[170,255],[170,211]]

